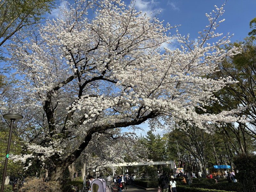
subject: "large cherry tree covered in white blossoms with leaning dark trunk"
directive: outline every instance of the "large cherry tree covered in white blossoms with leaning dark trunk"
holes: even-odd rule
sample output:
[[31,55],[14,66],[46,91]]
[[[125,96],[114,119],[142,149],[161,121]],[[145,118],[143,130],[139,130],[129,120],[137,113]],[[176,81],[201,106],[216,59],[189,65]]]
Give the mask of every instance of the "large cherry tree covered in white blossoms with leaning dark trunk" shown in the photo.
[[[59,18],[30,34],[20,32],[7,49],[17,69],[13,75],[20,76],[15,106],[25,116],[24,127],[30,128],[25,138],[33,153],[18,159],[47,159],[51,180],[60,182],[83,151],[90,154],[90,147],[106,138],[111,146],[122,127],[149,121],[153,129],[163,122],[168,128],[174,121],[187,121],[203,129],[207,122],[236,121],[236,111],[195,110],[217,101],[213,92],[232,83],[205,76],[238,52],[236,47],[220,49],[230,39],[215,33],[223,12],[221,6],[206,14],[210,24],[197,41],[178,31],[171,36],[169,23],[165,26],[137,12],[134,3],[126,7],[120,0],[66,4]],[[161,51],[171,39],[180,48]],[[125,144],[119,142],[119,148]],[[107,156],[116,154],[109,151]]]

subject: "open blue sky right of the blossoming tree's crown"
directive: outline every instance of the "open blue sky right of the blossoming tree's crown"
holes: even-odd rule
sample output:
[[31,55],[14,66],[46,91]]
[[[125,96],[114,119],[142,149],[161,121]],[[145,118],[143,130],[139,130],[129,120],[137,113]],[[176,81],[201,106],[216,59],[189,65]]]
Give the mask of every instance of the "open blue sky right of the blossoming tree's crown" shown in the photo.
[[[129,3],[129,0],[127,0]],[[136,9],[143,12],[161,10],[159,20],[169,22],[171,26],[181,25],[181,34],[190,34],[191,39],[198,36],[209,24],[205,13],[212,12],[214,5],[220,7],[224,0],[136,0]],[[250,31],[249,22],[256,17],[256,0],[228,0],[225,3],[225,13],[220,18],[225,19],[218,29],[224,35],[234,34],[232,41],[242,41]],[[173,34],[175,30],[173,30]]]

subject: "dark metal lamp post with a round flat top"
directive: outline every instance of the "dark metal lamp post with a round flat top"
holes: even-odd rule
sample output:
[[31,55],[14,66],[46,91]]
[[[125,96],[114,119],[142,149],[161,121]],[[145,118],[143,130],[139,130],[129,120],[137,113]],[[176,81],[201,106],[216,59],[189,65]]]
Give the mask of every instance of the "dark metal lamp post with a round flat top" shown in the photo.
[[11,125],[10,125],[10,133],[9,133],[8,145],[7,145],[7,150],[6,150],[6,156],[5,156],[5,164],[4,164],[4,172],[3,172],[1,192],[4,191],[5,173],[6,173],[7,163],[8,163],[8,158],[9,158],[9,150],[10,150],[11,139],[12,139],[13,123],[14,123],[15,120],[20,120],[20,119],[23,118],[22,115],[12,114],[12,113],[7,113],[7,114],[4,114],[3,116],[4,116],[5,119],[11,120]]

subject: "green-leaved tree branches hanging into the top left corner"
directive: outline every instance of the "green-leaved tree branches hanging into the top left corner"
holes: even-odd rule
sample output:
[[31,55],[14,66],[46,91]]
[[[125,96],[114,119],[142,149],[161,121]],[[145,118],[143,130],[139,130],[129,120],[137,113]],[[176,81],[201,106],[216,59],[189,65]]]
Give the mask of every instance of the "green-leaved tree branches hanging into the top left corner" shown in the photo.
[[39,23],[53,0],[0,0],[0,46],[21,28]]

